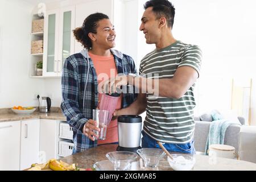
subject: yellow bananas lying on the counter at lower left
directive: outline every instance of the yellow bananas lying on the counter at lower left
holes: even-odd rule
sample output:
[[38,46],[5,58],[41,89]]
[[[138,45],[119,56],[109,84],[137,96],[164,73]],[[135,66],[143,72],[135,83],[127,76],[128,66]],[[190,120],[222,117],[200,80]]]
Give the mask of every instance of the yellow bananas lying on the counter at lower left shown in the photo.
[[79,171],[79,168],[75,164],[67,164],[63,161],[56,159],[48,160],[46,164],[32,164],[28,171],[41,171],[41,170],[53,170],[53,171]]

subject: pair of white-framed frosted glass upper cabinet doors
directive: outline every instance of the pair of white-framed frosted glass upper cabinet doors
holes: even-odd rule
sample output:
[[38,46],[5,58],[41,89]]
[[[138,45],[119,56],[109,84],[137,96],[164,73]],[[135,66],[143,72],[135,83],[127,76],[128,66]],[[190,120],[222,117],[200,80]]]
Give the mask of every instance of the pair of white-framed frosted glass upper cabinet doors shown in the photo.
[[75,6],[46,11],[43,77],[60,77],[65,59],[74,53]]

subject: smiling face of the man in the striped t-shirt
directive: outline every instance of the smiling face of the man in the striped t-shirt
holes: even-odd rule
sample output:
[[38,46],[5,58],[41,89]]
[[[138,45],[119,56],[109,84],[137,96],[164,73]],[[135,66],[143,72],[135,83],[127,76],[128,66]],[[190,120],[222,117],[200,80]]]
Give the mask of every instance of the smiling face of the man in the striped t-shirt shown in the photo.
[[141,18],[139,30],[143,31],[147,44],[156,44],[160,39],[159,19],[156,18],[152,7],[148,7]]

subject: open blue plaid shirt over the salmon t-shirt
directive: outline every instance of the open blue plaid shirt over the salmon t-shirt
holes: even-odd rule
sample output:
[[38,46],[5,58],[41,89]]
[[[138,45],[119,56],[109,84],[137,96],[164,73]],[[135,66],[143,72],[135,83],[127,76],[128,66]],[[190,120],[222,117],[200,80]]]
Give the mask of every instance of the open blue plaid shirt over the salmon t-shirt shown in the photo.
[[[128,75],[129,73],[137,74],[137,69],[133,59],[119,51],[110,49],[114,56],[117,73]],[[89,76],[84,93],[86,76]],[[82,133],[82,127],[85,123],[93,118],[92,110],[98,105],[98,81],[96,70],[93,66],[92,59],[88,55],[88,50],[84,49],[80,53],[69,56],[64,63],[61,78],[62,102],[61,110],[67,117],[67,122],[73,127],[73,142],[75,151],[84,151],[86,148],[97,146],[97,140],[92,141]],[[134,89],[133,89],[134,90]],[[85,105],[83,98],[85,94]],[[129,106],[137,98],[137,94],[123,93],[122,108]],[[84,108],[84,109],[83,109]]]

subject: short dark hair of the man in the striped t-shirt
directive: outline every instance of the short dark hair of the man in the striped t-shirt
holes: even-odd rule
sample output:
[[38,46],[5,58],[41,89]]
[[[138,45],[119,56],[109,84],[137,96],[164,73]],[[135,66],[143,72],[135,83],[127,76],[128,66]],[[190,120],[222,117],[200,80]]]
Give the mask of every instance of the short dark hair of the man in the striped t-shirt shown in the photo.
[[152,11],[156,14],[156,18],[164,16],[167,20],[167,26],[171,27],[174,25],[175,8],[172,3],[168,0],[150,0],[144,4],[144,9],[153,7]]

